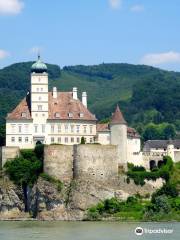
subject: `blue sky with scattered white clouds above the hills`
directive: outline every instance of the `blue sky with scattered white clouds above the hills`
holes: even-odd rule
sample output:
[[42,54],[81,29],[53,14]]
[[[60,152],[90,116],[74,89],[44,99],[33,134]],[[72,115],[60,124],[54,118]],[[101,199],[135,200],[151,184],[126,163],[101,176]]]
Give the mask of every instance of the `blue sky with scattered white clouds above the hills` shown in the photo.
[[0,68],[146,64],[180,71],[180,0],[0,0]]

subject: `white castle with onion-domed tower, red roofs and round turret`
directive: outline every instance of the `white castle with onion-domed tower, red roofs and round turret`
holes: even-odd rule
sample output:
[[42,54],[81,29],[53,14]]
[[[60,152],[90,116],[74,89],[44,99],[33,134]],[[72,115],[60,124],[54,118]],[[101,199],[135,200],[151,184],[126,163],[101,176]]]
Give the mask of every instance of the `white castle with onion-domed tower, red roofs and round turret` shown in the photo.
[[109,124],[97,124],[87,108],[87,93],[78,99],[77,88],[71,92],[49,92],[47,66],[40,57],[31,67],[31,87],[27,96],[6,118],[6,146],[21,149],[43,144],[86,143],[118,145],[121,163],[142,159],[140,136],[128,128],[117,106]]

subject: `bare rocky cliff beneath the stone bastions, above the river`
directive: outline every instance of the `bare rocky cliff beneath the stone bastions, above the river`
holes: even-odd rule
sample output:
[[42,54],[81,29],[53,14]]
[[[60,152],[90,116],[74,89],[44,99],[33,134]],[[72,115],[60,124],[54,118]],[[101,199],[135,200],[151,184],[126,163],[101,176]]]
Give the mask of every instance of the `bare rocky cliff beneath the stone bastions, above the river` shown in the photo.
[[83,220],[86,210],[101,200],[117,197],[125,200],[139,193],[152,193],[155,187],[150,184],[136,186],[126,183],[125,177],[114,182],[97,182],[92,179],[77,179],[64,184],[60,191],[56,185],[39,178],[28,193],[29,213],[25,213],[21,189],[8,179],[0,181],[0,219],[24,219],[33,217],[39,220]]

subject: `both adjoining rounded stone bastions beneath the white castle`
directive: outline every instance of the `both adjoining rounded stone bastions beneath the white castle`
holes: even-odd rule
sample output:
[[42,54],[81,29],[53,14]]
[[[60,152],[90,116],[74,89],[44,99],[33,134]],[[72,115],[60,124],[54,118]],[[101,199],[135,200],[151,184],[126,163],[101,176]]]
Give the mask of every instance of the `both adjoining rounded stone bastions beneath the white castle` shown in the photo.
[[109,180],[118,175],[117,146],[50,145],[44,149],[44,172],[62,181],[72,178]]

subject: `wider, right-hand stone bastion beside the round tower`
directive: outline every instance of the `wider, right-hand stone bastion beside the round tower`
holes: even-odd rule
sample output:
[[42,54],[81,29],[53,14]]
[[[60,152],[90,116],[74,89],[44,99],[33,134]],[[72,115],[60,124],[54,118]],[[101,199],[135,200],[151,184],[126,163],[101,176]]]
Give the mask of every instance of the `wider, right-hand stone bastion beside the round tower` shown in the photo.
[[117,146],[76,145],[74,146],[74,178],[90,177],[109,180],[118,175]]

